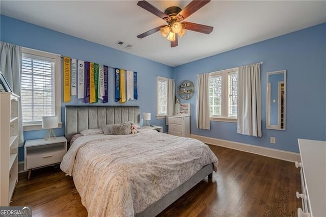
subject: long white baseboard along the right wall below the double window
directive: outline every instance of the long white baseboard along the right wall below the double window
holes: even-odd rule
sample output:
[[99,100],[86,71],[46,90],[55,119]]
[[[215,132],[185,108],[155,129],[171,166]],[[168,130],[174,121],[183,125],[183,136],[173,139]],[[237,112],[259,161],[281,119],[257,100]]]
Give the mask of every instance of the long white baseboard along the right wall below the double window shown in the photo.
[[195,135],[195,134],[191,134],[190,137],[210,145],[222,146],[226,148],[236,149],[239,151],[245,151],[253,154],[259,154],[267,157],[273,157],[273,158],[286,160],[290,162],[301,161],[300,154],[291,151],[282,151],[273,148],[265,148],[261,146],[232,142],[228,140],[203,137],[202,135]]

